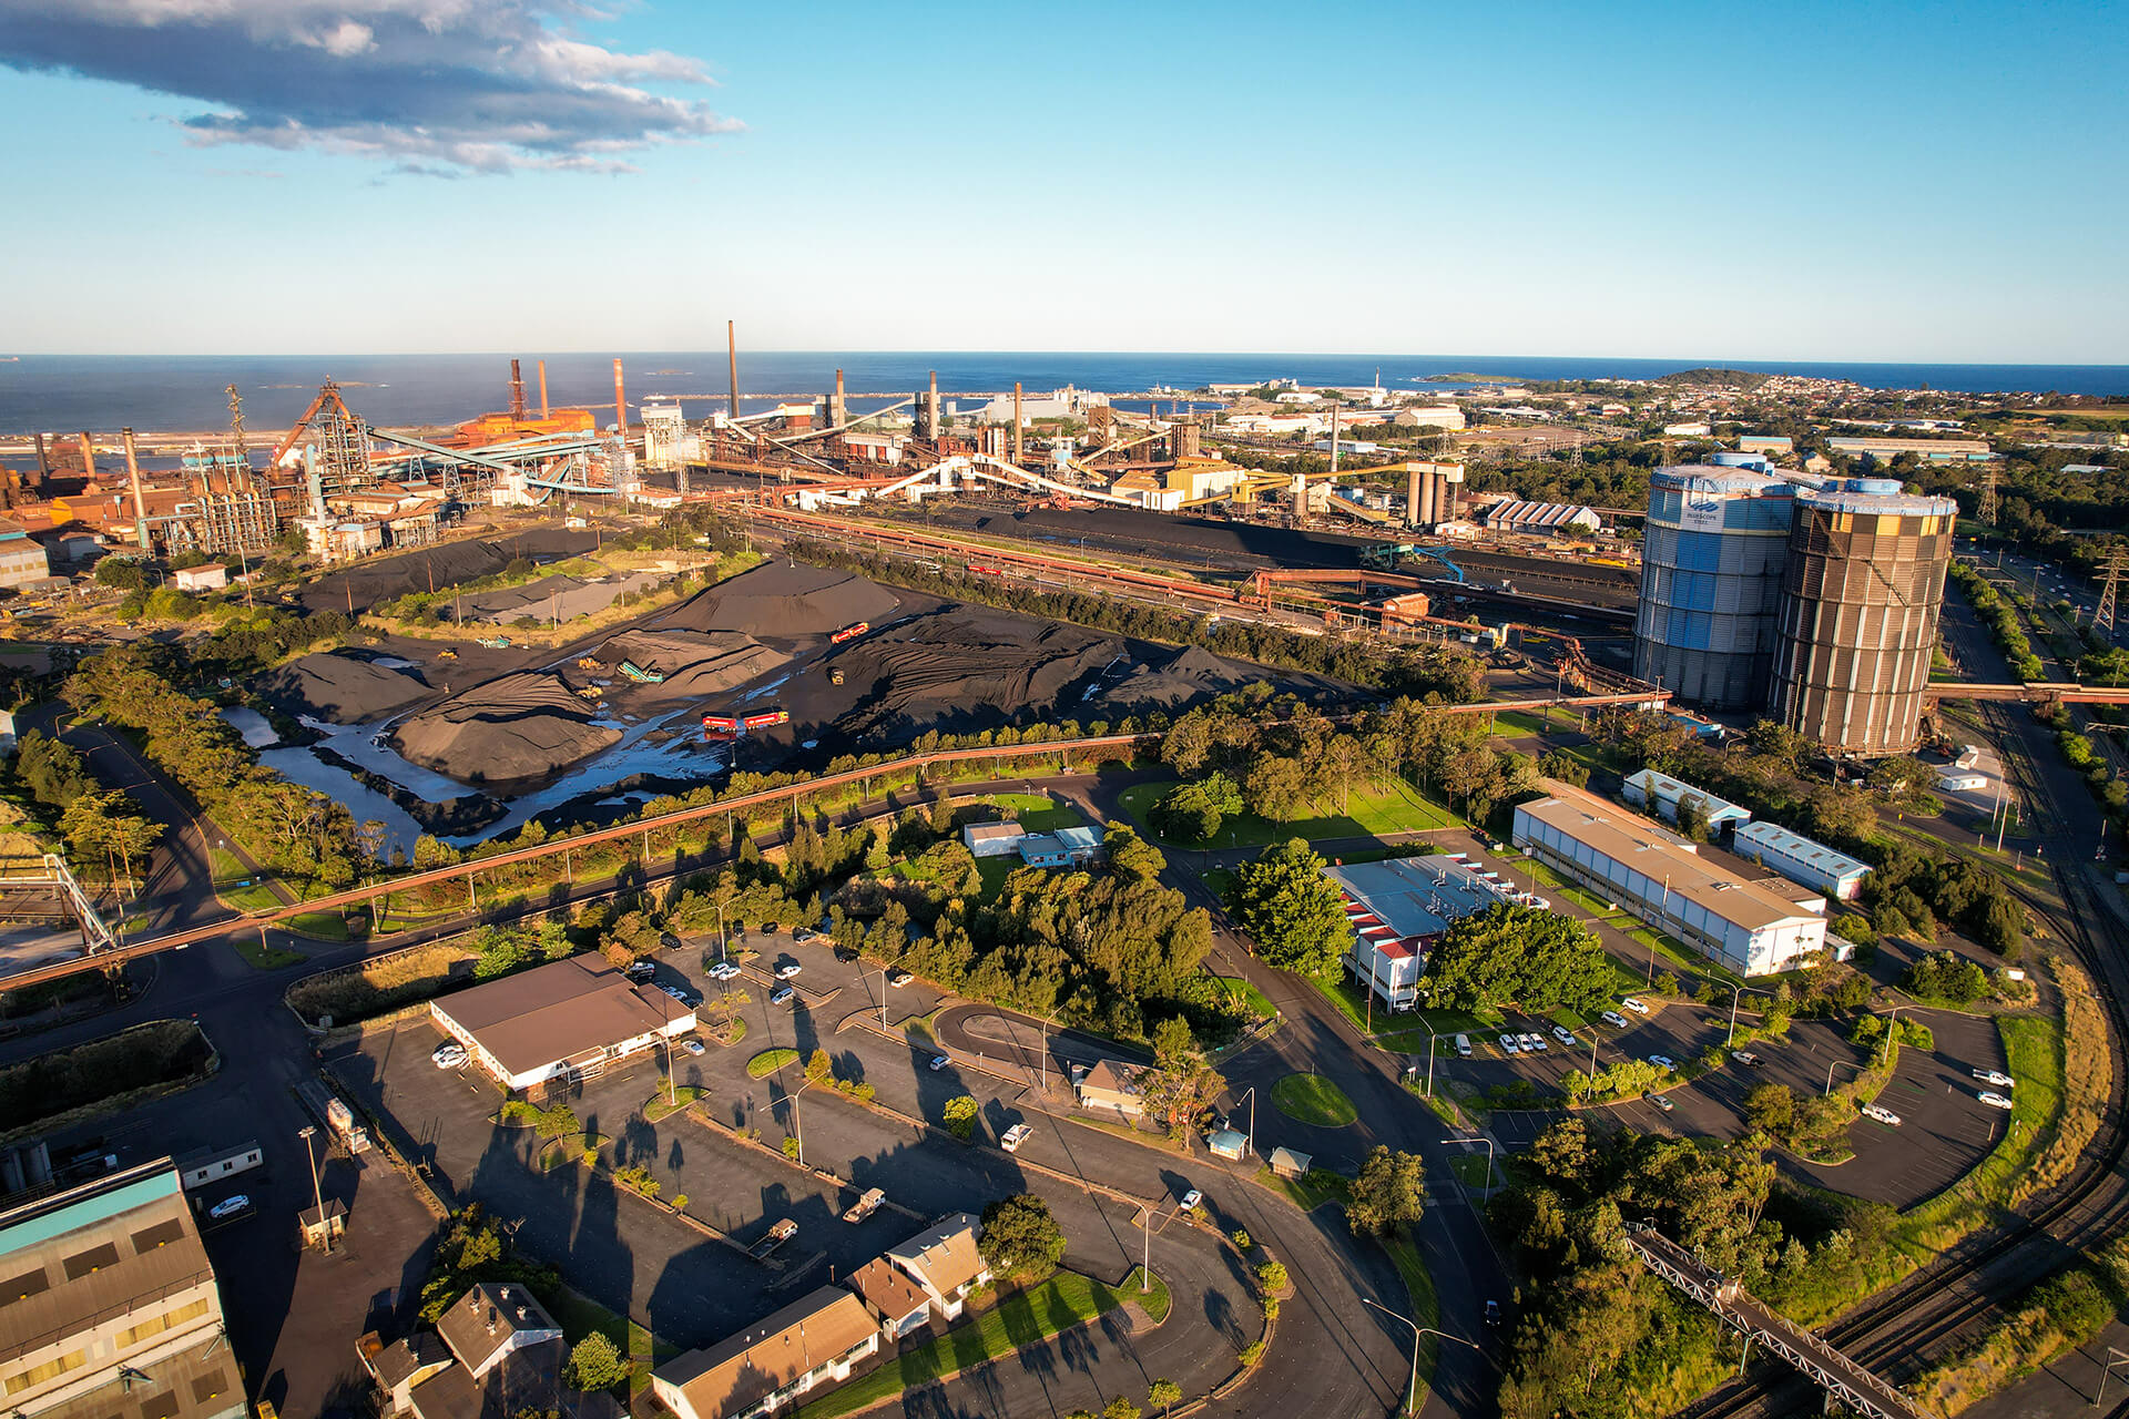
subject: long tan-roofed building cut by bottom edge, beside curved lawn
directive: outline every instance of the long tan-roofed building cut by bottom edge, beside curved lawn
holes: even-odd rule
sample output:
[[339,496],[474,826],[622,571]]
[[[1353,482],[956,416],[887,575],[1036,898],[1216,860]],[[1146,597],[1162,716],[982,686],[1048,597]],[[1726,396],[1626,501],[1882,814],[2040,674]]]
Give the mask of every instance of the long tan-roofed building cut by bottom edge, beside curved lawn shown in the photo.
[[651,1393],[679,1419],[758,1419],[849,1379],[879,1353],[879,1325],[856,1296],[824,1285],[769,1319],[651,1370]]

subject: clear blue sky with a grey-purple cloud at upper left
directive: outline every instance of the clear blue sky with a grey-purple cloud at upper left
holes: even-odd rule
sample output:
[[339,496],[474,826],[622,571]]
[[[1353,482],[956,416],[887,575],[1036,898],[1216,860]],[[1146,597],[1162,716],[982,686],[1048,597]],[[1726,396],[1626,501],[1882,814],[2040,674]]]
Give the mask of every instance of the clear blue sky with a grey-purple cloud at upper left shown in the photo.
[[[0,345],[2129,362],[2106,4],[0,0]],[[21,140],[28,136],[28,140]]]

